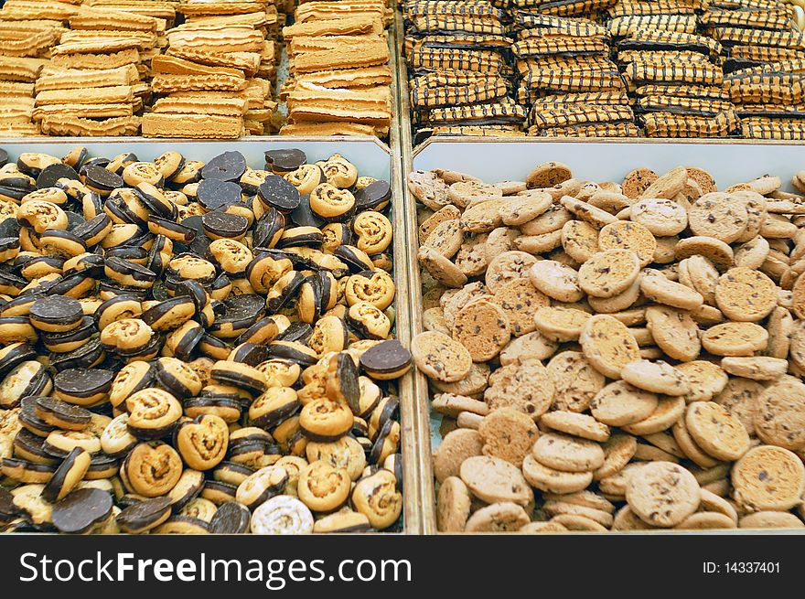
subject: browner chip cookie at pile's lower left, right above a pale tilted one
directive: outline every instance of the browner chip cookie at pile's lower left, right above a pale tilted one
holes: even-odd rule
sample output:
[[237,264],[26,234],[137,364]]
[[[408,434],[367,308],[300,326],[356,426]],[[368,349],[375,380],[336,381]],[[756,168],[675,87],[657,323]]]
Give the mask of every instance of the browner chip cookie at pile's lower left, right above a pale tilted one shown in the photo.
[[540,436],[528,415],[510,407],[499,408],[485,416],[478,425],[478,433],[483,439],[484,455],[499,457],[518,468]]

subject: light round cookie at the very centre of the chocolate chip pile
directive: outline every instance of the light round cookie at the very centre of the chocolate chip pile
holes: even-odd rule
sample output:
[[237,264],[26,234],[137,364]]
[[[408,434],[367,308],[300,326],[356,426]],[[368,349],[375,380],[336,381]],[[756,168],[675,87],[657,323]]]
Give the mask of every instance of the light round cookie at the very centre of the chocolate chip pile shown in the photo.
[[[539,314],[539,313],[538,313]],[[582,351],[593,367],[610,379],[620,378],[629,362],[639,359],[639,346],[627,326],[612,316],[587,319],[579,337]]]

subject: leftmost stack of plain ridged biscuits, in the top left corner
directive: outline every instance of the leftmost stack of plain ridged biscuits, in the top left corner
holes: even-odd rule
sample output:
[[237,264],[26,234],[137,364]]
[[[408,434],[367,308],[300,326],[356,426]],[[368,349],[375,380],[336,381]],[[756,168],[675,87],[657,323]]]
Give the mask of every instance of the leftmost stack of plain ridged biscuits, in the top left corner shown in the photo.
[[34,84],[59,43],[63,20],[73,5],[11,0],[0,9],[0,135],[37,135],[33,122]]

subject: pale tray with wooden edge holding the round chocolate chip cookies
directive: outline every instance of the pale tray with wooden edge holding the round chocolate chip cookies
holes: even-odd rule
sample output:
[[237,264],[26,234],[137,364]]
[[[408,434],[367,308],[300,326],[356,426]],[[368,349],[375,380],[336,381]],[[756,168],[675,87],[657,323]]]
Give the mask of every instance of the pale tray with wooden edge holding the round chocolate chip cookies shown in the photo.
[[[782,189],[791,191],[790,178],[805,169],[805,145],[750,140],[552,140],[533,138],[499,139],[484,137],[432,138],[413,149],[411,130],[402,130],[402,165],[404,202],[409,228],[409,248],[419,247],[416,227],[416,200],[408,191],[407,176],[412,170],[451,169],[478,176],[487,183],[524,180],[534,166],[559,161],[570,166],[584,179],[620,181],[628,171],[639,166],[659,173],[675,166],[699,166],[714,176],[719,188],[757,176],[773,174],[783,181]],[[419,264],[414,251],[408,253],[411,290],[412,337],[424,330],[423,294]],[[425,534],[436,533],[435,486],[431,449],[441,443],[441,415],[432,412],[428,381],[424,374],[414,375],[415,419],[421,469],[422,521]],[[661,530],[652,534],[708,534],[708,531]],[[763,534],[757,530],[718,530],[719,534]],[[771,532],[775,532],[772,530]],[[791,530],[792,534],[805,531]],[[571,533],[572,534],[572,533]]]

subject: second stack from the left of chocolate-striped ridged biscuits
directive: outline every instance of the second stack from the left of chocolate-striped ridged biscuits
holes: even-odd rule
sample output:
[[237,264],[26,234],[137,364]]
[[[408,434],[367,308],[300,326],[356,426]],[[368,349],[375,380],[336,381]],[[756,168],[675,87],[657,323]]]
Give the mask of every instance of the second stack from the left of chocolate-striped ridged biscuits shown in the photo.
[[585,18],[517,12],[512,47],[518,100],[530,106],[530,135],[633,137],[639,134],[623,79],[609,59],[606,27]]

